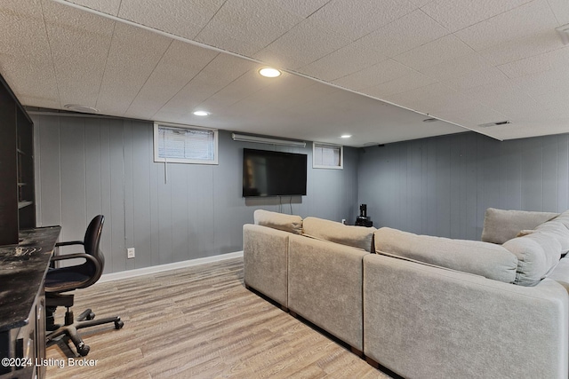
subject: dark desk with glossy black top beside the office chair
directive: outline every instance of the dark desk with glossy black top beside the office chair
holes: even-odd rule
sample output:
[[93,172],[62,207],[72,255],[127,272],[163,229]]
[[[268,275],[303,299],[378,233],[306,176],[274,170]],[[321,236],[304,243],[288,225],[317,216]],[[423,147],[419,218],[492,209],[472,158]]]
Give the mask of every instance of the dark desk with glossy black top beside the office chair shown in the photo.
[[60,231],[22,230],[18,245],[0,247],[0,379],[44,377],[44,280]]

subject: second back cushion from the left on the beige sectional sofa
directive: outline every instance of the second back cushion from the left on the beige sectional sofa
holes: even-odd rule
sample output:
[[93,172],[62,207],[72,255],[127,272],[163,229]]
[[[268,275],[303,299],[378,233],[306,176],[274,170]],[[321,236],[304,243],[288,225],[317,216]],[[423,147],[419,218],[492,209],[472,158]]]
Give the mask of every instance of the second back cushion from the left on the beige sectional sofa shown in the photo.
[[374,227],[343,225],[318,217],[306,217],[302,222],[303,233],[309,237],[333,241],[353,248],[373,251]]

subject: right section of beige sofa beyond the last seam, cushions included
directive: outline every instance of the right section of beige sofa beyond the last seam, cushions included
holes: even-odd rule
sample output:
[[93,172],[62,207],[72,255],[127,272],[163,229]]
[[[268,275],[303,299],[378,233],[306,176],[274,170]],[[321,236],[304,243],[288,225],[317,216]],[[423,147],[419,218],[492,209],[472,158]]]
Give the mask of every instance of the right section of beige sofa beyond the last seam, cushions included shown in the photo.
[[485,240],[503,244],[375,233],[379,254],[364,257],[368,359],[406,378],[567,377],[569,212],[486,217]]

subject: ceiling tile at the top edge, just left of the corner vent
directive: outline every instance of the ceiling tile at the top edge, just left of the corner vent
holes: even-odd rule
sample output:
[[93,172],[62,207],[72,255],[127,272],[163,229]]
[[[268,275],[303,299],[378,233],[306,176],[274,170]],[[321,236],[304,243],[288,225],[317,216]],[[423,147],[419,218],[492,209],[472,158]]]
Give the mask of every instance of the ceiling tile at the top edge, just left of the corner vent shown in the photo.
[[455,36],[474,50],[480,51],[495,44],[532,36],[556,27],[557,21],[547,0],[535,0],[459,30]]

